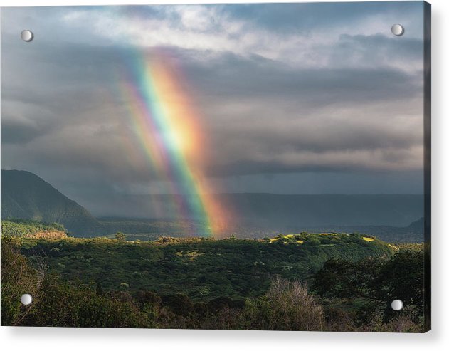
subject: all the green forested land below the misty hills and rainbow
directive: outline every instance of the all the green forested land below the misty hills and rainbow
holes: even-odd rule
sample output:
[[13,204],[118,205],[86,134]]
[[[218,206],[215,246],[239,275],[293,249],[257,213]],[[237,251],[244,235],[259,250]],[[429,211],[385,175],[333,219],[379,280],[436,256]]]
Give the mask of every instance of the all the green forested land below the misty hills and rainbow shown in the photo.
[[[334,233],[152,241],[121,233],[114,239],[42,236],[61,229],[2,222],[2,325],[426,328],[423,244]],[[33,295],[31,305],[21,305],[24,292]],[[403,310],[391,309],[395,298]]]

